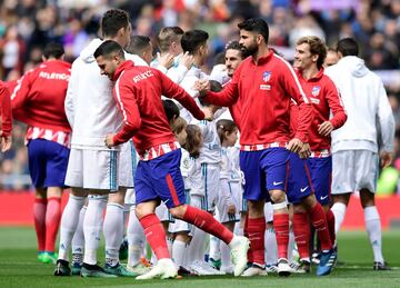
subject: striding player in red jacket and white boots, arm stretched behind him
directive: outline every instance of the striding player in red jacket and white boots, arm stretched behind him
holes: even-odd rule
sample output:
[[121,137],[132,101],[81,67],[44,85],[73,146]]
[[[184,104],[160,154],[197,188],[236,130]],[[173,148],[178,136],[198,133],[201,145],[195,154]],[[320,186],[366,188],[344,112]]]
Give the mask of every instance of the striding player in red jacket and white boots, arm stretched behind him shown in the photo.
[[177,276],[163,228],[154,215],[160,200],[174,218],[188,221],[229,244],[236,264],[234,274],[240,275],[247,265],[248,239],[234,236],[208,212],[184,203],[179,168],[181,151],[170,130],[161,95],[180,101],[197,119],[210,119],[210,115],[206,116],[193,99],[162,72],[124,61],[123,50],[117,42],[106,41],[96,50],[94,57],[101,72],[117,81],[113,92],[123,115],[122,128],[116,135],[108,135],[106,145],[112,148],[133,137],[141,158],[134,179],[136,212],[159,261],[151,271],[137,279]]

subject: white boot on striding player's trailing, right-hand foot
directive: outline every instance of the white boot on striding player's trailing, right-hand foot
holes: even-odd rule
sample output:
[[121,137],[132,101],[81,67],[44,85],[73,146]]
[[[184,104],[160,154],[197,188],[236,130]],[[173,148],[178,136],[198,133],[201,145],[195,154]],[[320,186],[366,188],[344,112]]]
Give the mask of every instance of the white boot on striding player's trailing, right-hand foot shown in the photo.
[[243,236],[233,236],[229,247],[231,248],[231,258],[232,264],[234,265],[233,275],[238,277],[247,267],[247,251],[250,248],[250,241]]

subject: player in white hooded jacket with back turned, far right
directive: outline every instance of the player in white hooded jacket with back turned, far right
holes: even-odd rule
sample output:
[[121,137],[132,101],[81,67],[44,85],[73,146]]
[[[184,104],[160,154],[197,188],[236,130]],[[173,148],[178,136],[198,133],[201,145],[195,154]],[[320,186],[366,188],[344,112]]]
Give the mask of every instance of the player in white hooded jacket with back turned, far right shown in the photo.
[[[383,83],[358,57],[354,39],[339,40],[339,62],[326,70],[338,87],[348,120],[332,132],[332,212],[336,232],[343,222],[351,192],[360,191],[368,237],[373,251],[373,269],[388,270],[382,256],[382,235],[374,203],[378,159],[388,167],[393,159],[394,120]],[[378,139],[381,147],[378,147]]]

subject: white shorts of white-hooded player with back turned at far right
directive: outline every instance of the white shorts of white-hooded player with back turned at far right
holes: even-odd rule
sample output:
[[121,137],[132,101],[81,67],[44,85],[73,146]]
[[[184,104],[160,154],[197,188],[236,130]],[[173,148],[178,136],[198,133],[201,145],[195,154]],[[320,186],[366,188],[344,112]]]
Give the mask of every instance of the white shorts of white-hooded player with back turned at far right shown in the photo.
[[369,150],[343,150],[332,153],[332,195],[368,189],[377,190],[379,158]]

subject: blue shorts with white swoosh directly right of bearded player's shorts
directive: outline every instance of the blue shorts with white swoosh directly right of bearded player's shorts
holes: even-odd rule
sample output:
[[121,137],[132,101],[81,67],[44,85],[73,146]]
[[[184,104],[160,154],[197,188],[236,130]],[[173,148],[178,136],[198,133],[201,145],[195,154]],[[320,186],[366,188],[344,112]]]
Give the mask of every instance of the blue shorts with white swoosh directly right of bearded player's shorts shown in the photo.
[[313,193],[308,160],[300,159],[297,153],[290,153],[288,171],[288,201],[297,205],[300,203],[304,197]]

